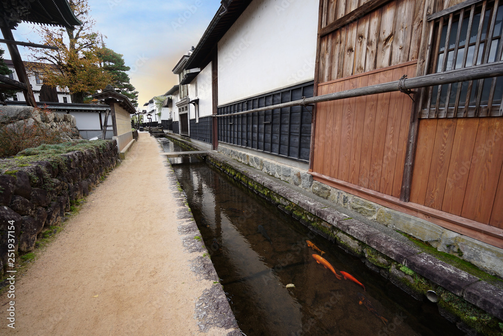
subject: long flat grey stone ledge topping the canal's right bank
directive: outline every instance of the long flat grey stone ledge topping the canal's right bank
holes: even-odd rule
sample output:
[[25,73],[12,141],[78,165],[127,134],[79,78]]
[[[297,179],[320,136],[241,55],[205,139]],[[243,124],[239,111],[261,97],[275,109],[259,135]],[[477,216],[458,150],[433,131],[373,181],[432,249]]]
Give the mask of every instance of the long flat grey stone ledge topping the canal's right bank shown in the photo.
[[[192,149],[199,150],[199,148],[192,143],[178,138],[176,141],[182,142]],[[328,223],[330,225],[330,230],[340,230],[341,234],[347,234],[356,238],[362,244],[375,248],[380,253],[406,266],[418,275],[456,294],[456,296],[465,299],[499,320],[503,320],[503,291],[501,289],[484,281],[480,281],[480,279],[428,253],[422,253],[415,247],[389,237],[385,233],[382,233],[364,222],[348,219],[347,215],[335,209],[327,208],[325,204],[295,191],[289,186],[274,181],[273,177],[254,172],[254,170],[256,170],[255,168],[244,166],[244,164],[237,163],[237,161],[229,159],[223,154],[215,151],[210,151],[208,157],[216,162],[231,167],[239,174],[244,175],[247,179],[254,181],[270,192],[276,193],[310,214],[315,215],[317,218]],[[241,180],[241,182],[251,187],[249,181]],[[267,192],[265,197],[269,198]],[[279,207],[281,208],[281,205],[279,205]],[[313,230],[315,228],[310,227],[310,229]],[[319,230],[315,229],[314,231],[318,232]],[[318,233],[326,236],[323,232]],[[348,250],[344,246],[344,241],[341,247]],[[363,254],[363,248],[361,249]],[[402,288],[401,286],[399,287]]]

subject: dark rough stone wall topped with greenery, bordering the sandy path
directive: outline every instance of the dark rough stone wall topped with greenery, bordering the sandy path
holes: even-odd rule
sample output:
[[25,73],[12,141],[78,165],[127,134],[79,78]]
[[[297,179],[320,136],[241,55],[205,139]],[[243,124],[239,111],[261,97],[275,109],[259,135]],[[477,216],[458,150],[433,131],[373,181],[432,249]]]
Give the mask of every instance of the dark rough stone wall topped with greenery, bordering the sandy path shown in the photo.
[[0,275],[7,268],[8,250],[32,251],[43,229],[58,226],[73,201],[87,196],[118,160],[116,142],[107,141],[0,175]]

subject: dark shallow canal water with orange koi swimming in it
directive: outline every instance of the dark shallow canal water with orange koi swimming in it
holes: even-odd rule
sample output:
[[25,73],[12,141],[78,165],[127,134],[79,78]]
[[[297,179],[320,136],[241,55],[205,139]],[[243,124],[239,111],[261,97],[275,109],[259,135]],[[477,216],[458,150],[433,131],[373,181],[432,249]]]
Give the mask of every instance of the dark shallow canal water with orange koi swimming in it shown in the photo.
[[[182,151],[163,142],[167,152]],[[254,335],[462,335],[253,191],[196,158],[171,159],[241,331]],[[324,253],[339,280],[307,246]],[[294,286],[294,287],[293,287]]]

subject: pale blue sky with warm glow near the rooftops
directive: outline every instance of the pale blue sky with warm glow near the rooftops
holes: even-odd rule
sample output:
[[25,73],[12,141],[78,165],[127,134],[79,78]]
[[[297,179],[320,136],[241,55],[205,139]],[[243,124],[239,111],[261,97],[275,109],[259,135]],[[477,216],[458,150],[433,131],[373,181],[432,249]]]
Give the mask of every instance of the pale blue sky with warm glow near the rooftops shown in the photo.
[[[220,0],[89,0],[95,30],[106,46],[123,54],[138,108],[178,84],[172,70],[196,46],[220,7]],[[13,31],[19,41],[39,42],[33,24]],[[106,36],[106,37],[105,37]],[[3,49],[6,49],[2,45]],[[19,47],[23,60],[29,51]],[[5,58],[8,58],[6,51]]]

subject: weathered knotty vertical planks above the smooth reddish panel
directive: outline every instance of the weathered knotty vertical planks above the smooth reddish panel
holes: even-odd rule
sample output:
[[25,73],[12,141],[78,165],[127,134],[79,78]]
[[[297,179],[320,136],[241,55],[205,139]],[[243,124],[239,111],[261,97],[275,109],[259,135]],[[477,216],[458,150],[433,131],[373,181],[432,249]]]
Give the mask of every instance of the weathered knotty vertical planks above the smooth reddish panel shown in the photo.
[[[322,27],[376,1],[324,2]],[[395,0],[321,37],[318,82],[328,82],[416,60],[425,0]],[[336,22],[337,23],[337,22]],[[414,74],[415,75],[415,74]]]

